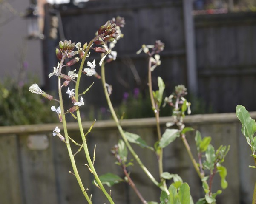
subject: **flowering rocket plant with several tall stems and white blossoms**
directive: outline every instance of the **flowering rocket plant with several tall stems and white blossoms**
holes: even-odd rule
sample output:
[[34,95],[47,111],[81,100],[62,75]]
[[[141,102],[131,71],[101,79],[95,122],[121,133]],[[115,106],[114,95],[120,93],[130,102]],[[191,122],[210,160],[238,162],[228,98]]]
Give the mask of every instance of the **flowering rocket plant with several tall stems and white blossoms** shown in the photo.
[[[221,177],[221,187],[223,189],[227,187],[227,181],[225,180],[227,170],[225,167],[222,166],[222,162],[224,161],[224,157],[229,150],[229,146],[221,146],[215,151],[214,147],[210,144],[211,138],[202,138],[201,134],[197,131],[195,139],[196,149],[198,150],[198,161],[196,161],[196,158],[194,158],[190,150],[190,145],[188,144],[186,139],[186,133],[188,131],[193,131],[193,128],[185,127],[183,122],[185,113],[190,114],[191,112],[190,103],[185,98],[187,95],[187,88],[185,88],[184,85],[178,85],[175,87],[175,92],[173,94],[171,94],[169,97],[164,98],[164,81],[163,79],[161,79],[161,77],[158,77],[158,90],[153,91],[152,89],[151,75],[152,72],[161,65],[160,53],[164,50],[164,43],[160,40],[157,40],[154,45],[142,45],[141,49],[137,52],[137,54],[144,52],[144,54],[147,55],[148,87],[152,111],[155,115],[158,139],[157,141],[155,141],[154,146],[151,147],[141,138],[141,136],[134,133],[126,132],[121,127],[121,119],[118,119],[118,116],[115,113],[110,99],[110,95],[112,94],[113,90],[112,85],[109,85],[106,82],[105,64],[115,60],[117,57],[117,52],[113,49],[115,48],[115,44],[118,42],[118,40],[123,37],[123,34],[121,33],[121,28],[124,27],[124,24],[125,21],[122,17],[113,18],[112,20],[107,21],[98,29],[96,37],[94,37],[89,43],[84,43],[83,46],[80,42],[72,43],[70,40],[59,42],[59,48],[56,48],[55,51],[56,57],[59,62],[57,66],[53,68],[52,73],[49,74],[49,77],[57,77],[58,79],[58,99],[55,99],[53,96],[42,91],[40,87],[36,84],[33,84],[29,88],[29,91],[35,94],[39,94],[46,99],[58,102],[58,105],[53,105],[51,107],[51,110],[57,113],[59,121],[63,124],[63,130],[60,130],[60,128],[57,126],[53,130],[52,134],[53,136],[58,136],[60,141],[62,141],[63,144],[66,145],[73,168],[72,174],[75,175],[75,178],[78,181],[78,185],[80,186],[81,191],[89,204],[92,204],[92,195],[87,194],[87,191],[82,184],[75,162],[75,155],[77,153],[80,153],[82,149],[86,156],[86,166],[88,167],[90,173],[92,173],[94,176],[95,186],[98,187],[102,191],[102,193],[104,193],[106,199],[111,204],[114,204],[114,201],[111,197],[111,192],[106,191],[104,184],[112,186],[113,184],[119,182],[127,182],[138,195],[141,203],[159,203],[156,201],[146,201],[146,198],[144,198],[145,195],[142,195],[139,189],[136,187],[135,182],[132,180],[132,175],[127,169],[127,167],[129,167],[130,165],[133,165],[133,161],[127,159],[128,152],[133,156],[134,161],[136,161],[141,167],[142,173],[145,173],[150,181],[152,181],[155,186],[161,189],[161,195],[159,196],[160,204],[193,204],[193,199],[190,195],[189,185],[183,182],[181,177],[177,174],[164,172],[163,168],[163,149],[168,147],[171,142],[174,142],[175,139],[178,138],[180,138],[184,143],[184,147],[186,148],[187,153],[192,161],[193,167],[195,168],[199,178],[202,181],[205,196],[204,198],[201,198],[197,203],[215,204],[216,195],[220,194],[221,190],[213,193],[212,182],[214,176],[219,173],[219,176]],[[101,54],[100,62],[96,62],[95,59],[87,60],[87,57],[89,57],[90,55],[90,51],[95,51],[96,53]],[[69,61],[66,62],[67,60]],[[68,75],[62,73],[63,69],[65,69],[66,66],[72,67],[72,65],[78,62],[81,62],[81,64],[77,72],[74,69],[72,71],[69,71]],[[85,62],[87,62],[87,66],[84,68]],[[101,75],[99,75],[95,70],[98,65],[101,66]],[[86,74],[86,76],[88,77],[95,77],[96,80],[101,80],[109,110],[121,135],[121,139],[119,140],[118,144],[116,144],[112,148],[111,152],[117,159],[116,164],[118,164],[122,168],[125,175],[124,178],[120,178],[118,175],[112,173],[106,173],[104,175],[98,176],[97,171],[95,170],[94,161],[96,145],[94,148],[93,157],[91,157],[86,141],[86,137],[92,130],[95,121],[92,123],[92,126],[89,128],[89,130],[87,130],[85,133],[82,127],[80,114],[80,107],[84,105],[83,95],[86,94],[86,92],[92,87],[92,85],[89,86],[86,90],[79,89],[82,74]],[[69,88],[70,83],[75,83],[74,89]],[[64,110],[62,91],[63,89],[64,92],[69,95],[69,99],[73,104],[71,107],[69,107],[68,110]],[[165,130],[164,133],[161,132],[159,117],[159,113],[163,105],[170,105],[173,108],[173,121],[167,123],[168,128]],[[69,131],[66,124],[67,114],[71,114],[77,120],[79,131],[81,133],[81,138],[83,141],[82,144],[78,144],[77,142],[75,142],[74,139],[69,136]],[[170,128],[172,126],[173,128]],[[79,149],[76,151],[72,150],[70,145],[71,142],[77,145]],[[147,167],[143,164],[143,161],[141,161],[139,156],[136,154],[131,143],[138,144],[140,147],[151,150],[155,153],[155,159],[158,162],[159,170],[158,178],[160,179],[155,178],[150,173],[150,170],[147,169]],[[167,186],[166,180],[172,180],[173,182],[170,186]]]

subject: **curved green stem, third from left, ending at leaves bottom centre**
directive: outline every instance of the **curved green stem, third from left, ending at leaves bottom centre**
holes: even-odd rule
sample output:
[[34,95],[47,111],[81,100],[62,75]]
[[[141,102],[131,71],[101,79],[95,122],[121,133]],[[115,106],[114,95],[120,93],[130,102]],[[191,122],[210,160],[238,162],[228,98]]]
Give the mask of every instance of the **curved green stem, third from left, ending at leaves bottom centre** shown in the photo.
[[132,149],[131,145],[129,144],[125,134],[124,134],[124,130],[122,129],[119,121],[118,121],[118,117],[115,114],[115,110],[113,108],[113,105],[111,103],[107,88],[106,88],[106,79],[105,79],[105,66],[104,66],[104,62],[101,65],[101,81],[102,81],[102,86],[104,89],[104,94],[106,96],[106,101],[108,103],[110,112],[113,116],[113,119],[115,121],[116,126],[118,127],[119,133],[121,134],[121,137],[123,138],[126,146],[128,147],[130,153],[132,154],[132,156],[135,158],[135,160],[137,161],[137,163],[139,164],[139,166],[141,167],[141,169],[144,171],[144,173],[146,173],[146,175],[150,178],[150,180],[157,186],[159,186],[158,181],[155,180],[155,178],[152,176],[152,174],[150,173],[149,170],[147,170],[147,168],[144,166],[144,164],[141,162],[141,159],[138,157],[138,155],[135,153],[135,151]]

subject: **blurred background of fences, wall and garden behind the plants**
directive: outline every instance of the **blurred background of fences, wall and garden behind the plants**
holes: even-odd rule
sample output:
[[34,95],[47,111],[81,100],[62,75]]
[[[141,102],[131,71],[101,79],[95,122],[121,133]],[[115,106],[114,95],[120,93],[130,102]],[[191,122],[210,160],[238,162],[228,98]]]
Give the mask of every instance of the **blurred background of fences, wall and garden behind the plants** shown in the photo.
[[[56,124],[45,125],[58,122],[58,116],[50,110],[58,104],[43,100],[28,88],[37,83],[58,98],[57,78],[49,79],[48,74],[58,63],[55,49],[59,41],[83,45],[101,25],[118,15],[126,21],[124,38],[115,46],[116,61],[106,65],[106,82],[112,85],[111,99],[118,116],[153,116],[147,94],[147,56],[136,55],[136,51],[143,44],[153,45],[155,40],[164,42],[165,48],[160,54],[161,65],[152,73],[154,90],[158,76],[165,82],[165,96],[174,91],[175,85],[184,84],[192,114],[234,113],[238,104],[256,111],[256,0],[0,0],[0,126],[40,124],[1,128],[0,204],[83,202],[75,179],[67,176],[71,167],[66,149],[52,138]],[[88,60],[93,59],[98,65],[100,56],[92,52]],[[78,65],[73,68],[78,69]],[[101,74],[99,66],[95,69]],[[101,81],[83,76],[81,89],[92,82],[95,84],[84,97],[83,120],[111,119]],[[170,116],[171,110],[161,108],[160,113]],[[250,203],[255,176],[250,170],[247,173],[250,151],[244,138],[241,140],[236,117],[219,114],[215,119],[212,115],[188,118],[188,125],[201,130],[203,136],[214,137],[216,145],[231,144],[227,157],[230,188],[218,203]],[[139,126],[145,121],[135,121],[132,127],[124,122],[124,127],[153,145],[154,121]],[[97,144],[99,155],[104,155],[104,161],[95,164],[100,173],[107,169],[121,175],[114,158],[106,154],[119,138],[115,125],[109,124],[96,125],[90,149]],[[84,127],[90,125],[88,122]],[[71,135],[79,142],[77,127],[71,127]],[[193,136],[188,140],[193,144]],[[193,198],[200,198],[200,181],[184,147],[180,141],[171,146],[165,152],[165,170],[184,176],[184,181],[194,185]],[[138,152],[157,175],[154,155]],[[84,171],[82,156],[78,156],[78,163]],[[134,167],[133,176],[142,192],[158,201],[159,192],[145,181],[138,167]],[[82,177],[93,180],[87,172]],[[114,187],[118,193],[113,194],[117,204],[139,203],[128,184],[118,185]],[[91,186],[89,190],[94,203],[104,202],[97,190]]]

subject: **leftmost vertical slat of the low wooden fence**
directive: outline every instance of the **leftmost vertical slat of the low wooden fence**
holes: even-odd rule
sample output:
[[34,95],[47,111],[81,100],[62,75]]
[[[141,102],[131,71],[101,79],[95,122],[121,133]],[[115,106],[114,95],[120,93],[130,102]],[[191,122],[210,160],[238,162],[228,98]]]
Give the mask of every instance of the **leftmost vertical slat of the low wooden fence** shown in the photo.
[[24,204],[16,135],[0,136],[0,203]]

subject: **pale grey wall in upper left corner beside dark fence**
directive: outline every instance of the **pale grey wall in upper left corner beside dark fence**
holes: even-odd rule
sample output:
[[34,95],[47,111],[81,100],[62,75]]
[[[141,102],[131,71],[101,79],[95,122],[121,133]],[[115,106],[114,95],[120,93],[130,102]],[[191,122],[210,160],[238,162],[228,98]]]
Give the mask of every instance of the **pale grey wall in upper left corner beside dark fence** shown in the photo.
[[[29,0],[8,0],[11,6],[18,12],[24,13],[29,7]],[[3,22],[13,14],[8,9],[3,10],[0,5],[0,22]],[[43,62],[42,49],[40,40],[27,40],[26,20],[22,17],[15,16],[8,23],[0,23],[0,79],[6,76],[18,77],[18,70],[24,55],[24,62],[28,68],[26,74],[38,76],[39,84],[43,85]]]

